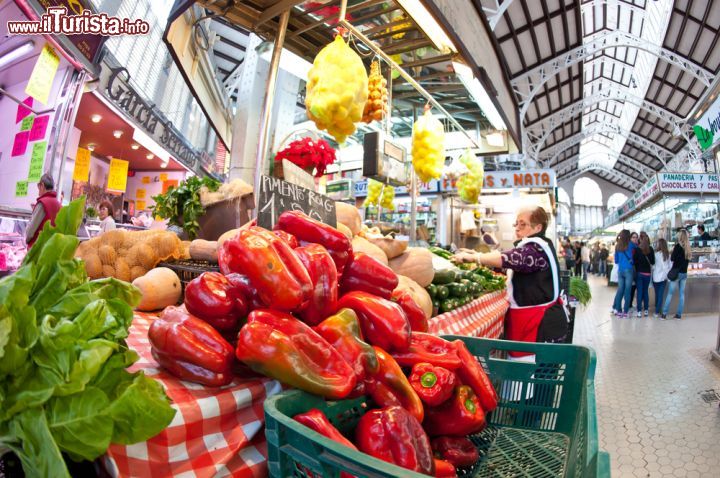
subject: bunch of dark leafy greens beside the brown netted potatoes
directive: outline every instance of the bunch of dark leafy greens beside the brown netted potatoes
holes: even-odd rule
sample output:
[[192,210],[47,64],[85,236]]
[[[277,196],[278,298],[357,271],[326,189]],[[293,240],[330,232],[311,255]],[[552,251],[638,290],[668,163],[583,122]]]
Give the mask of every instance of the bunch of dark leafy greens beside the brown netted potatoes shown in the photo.
[[165,194],[153,196],[154,212],[168,220],[171,226],[180,226],[188,233],[190,239],[197,237],[200,224],[198,218],[205,214],[200,202],[200,188],[207,186],[210,191],[217,191],[220,183],[213,178],[190,177],[178,187],[171,186]]

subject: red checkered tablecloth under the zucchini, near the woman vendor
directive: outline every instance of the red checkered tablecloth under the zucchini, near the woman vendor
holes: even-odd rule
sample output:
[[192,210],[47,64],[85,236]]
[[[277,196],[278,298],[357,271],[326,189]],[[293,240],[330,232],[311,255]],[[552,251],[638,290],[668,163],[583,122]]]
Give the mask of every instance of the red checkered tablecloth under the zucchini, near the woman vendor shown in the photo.
[[507,291],[485,294],[453,311],[430,319],[430,333],[498,338],[503,332],[505,312],[510,306]]

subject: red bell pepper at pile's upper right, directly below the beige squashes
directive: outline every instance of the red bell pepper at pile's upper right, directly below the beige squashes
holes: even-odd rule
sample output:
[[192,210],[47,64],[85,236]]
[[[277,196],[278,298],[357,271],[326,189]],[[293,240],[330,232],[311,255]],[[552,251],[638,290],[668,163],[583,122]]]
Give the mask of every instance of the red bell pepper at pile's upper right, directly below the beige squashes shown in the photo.
[[358,290],[389,299],[398,285],[397,274],[363,252],[356,252],[354,257],[353,261],[345,266],[340,281],[340,293],[347,294]]

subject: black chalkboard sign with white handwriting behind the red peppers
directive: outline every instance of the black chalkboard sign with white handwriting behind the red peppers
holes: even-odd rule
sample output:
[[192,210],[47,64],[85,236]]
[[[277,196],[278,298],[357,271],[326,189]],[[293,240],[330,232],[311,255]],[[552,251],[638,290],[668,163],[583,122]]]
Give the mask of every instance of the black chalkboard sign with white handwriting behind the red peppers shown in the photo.
[[258,194],[258,226],[272,229],[285,211],[302,211],[313,219],[337,227],[335,201],[297,184],[263,176]]

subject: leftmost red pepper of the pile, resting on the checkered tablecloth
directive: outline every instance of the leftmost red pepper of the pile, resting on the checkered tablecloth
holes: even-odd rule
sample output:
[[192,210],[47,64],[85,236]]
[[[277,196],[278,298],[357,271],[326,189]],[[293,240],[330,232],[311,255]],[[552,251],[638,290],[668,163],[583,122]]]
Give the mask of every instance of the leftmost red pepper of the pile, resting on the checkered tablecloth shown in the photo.
[[155,360],[179,379],[211,387],[232,381],[232,347],[185,310],[167,307],[150,325],[148,338]]

